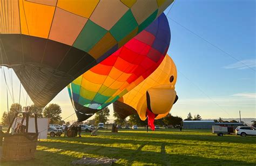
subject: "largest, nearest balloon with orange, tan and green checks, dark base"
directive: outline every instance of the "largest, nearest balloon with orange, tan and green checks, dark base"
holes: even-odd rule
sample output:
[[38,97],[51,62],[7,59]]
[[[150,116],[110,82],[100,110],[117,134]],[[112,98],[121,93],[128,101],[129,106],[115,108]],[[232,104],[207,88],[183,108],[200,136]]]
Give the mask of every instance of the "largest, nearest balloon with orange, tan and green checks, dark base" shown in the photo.
[[12,68],[44,107],[118,50],[173,0],[1,0],[0,66]]

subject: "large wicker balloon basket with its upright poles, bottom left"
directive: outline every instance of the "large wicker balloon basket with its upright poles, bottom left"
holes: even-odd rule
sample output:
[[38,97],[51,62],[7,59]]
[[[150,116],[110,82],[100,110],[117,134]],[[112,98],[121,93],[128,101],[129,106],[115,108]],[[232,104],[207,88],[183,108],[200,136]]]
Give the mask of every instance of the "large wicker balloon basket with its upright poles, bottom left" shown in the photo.
[[[11,121],[8,131],[3,135],[3,161],[24,161],[35,158],[38,137],[37,116],[35,115],[36,133],[28,133],[28,113],[23,113],[23,119],[19,123],[20,125],[17,125],[12,133],[9,133],[16,117],[17,115]],[[25,126],[23,126],[24,120],[26,120]]]

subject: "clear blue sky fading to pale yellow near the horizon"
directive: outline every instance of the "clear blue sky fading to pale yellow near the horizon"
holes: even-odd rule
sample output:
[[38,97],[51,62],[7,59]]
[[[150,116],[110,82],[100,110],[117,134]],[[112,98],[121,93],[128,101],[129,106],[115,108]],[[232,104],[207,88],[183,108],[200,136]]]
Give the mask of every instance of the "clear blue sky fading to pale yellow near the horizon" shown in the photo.
[[[212,119],[238,117],[241,110],[242,117],[255,118],[255,1],[176,0],[168,17],[240,60],[234,60],[169,19],[172,37],[168,53],[177,65],[179,96],[171,113],[186,118],[191,112]],[[6,110],[6,87],[0,73],[2,115]],[[18,86],[19,81],[14,78],[16,102]],[[62,117],[73,113],[66,89],[51,102],[60,104]],[[21,103],[25,105],[23,97]],[[68,118],[75,119],[75,115]]]

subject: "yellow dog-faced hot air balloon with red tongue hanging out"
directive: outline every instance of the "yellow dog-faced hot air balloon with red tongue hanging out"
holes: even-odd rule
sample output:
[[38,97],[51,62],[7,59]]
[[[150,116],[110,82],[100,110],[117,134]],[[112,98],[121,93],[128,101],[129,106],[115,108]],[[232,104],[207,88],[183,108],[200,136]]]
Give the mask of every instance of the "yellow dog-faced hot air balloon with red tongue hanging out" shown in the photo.
[[165,56],[156,71],[113,103],[113,109],[123,119],[137,112],[140,119],[148,119],[149,126],[154,130],[154,119],[168,115],[178,100],[176,81],[176,66],[169,56]]

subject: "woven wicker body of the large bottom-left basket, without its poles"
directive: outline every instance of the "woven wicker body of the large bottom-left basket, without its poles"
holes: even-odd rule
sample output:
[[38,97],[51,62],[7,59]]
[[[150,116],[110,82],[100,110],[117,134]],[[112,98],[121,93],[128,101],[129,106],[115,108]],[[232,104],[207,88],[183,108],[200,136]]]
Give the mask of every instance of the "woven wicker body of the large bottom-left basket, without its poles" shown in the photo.
[[30,136],[33,136],[32,140],[29,140],[24,134],[4,137],[2,160],[30,160],[35,158],[37,136],[35,133]]

